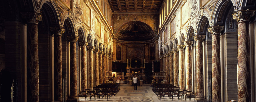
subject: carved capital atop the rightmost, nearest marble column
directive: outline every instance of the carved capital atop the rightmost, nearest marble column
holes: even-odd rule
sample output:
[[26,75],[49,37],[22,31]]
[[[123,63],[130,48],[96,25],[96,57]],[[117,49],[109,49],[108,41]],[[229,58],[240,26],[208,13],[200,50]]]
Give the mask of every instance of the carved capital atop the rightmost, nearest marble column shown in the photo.
[[239,10],[232,14],[233,19],[237,20],[237,22],[240,21],[249,21],[252,16],[254,16],[255,11],[250,11],[249,9],[247,10]]

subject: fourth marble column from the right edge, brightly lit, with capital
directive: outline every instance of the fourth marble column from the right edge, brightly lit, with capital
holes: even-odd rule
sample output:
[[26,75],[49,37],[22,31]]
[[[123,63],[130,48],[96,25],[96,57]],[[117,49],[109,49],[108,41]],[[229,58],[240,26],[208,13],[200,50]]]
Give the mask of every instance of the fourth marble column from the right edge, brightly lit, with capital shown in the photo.
[[192,50],[191,46],[194,41],[185,41],[184,44],[186,45],[186,89],[188,91],[192,90]]

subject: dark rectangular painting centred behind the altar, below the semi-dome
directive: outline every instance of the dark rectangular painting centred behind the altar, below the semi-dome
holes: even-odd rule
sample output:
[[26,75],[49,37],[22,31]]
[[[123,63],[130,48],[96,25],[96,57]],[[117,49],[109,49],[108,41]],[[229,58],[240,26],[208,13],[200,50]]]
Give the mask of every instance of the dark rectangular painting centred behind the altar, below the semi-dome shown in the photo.
[[143,58],[142,48],[128,48],[128,58]]

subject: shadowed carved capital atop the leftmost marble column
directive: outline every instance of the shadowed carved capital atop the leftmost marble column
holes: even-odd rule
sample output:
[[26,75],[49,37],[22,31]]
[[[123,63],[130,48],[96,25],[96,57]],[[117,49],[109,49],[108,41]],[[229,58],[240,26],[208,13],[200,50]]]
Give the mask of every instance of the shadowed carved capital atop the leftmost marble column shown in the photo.
[[39,21],[42,21],[42,15],[36,12],[26,12],[21,14],[22,18],[25,18],[28,23],[36,23],[38,24]]

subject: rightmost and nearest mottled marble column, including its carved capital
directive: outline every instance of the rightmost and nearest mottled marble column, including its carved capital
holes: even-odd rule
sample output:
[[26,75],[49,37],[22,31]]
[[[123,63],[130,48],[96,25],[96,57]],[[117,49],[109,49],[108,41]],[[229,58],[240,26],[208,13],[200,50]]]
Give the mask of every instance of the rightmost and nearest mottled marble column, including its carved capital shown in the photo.
[[251,74],[250,74],[250,40],[249,20],[255,10],[240,10],[235,12],[233,19],[238,25],[238,101],[251,101]]

